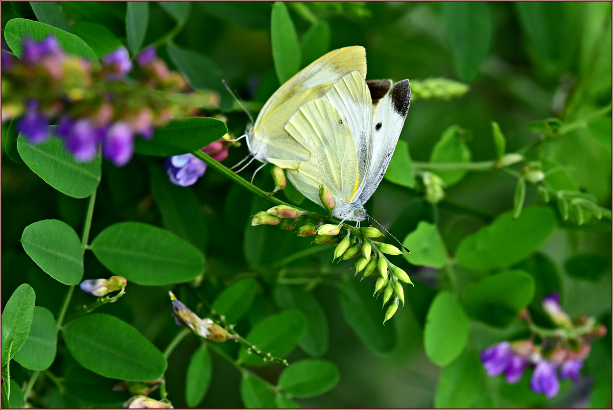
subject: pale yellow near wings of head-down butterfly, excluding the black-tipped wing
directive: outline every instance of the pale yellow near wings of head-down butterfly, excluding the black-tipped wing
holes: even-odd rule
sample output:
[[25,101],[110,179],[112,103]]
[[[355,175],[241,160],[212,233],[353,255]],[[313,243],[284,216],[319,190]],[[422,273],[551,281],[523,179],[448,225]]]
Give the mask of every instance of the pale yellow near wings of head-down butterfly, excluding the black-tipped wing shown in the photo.
[[287,132],[311,154],[298,169],[288,170],[290,181],[320,204],[319,185],[326,185],[337,203],[335,215],[344,217],[367,170],[371,125],[368,86],[359,72],[351,72],[324,97],[300,107],[287,123]]

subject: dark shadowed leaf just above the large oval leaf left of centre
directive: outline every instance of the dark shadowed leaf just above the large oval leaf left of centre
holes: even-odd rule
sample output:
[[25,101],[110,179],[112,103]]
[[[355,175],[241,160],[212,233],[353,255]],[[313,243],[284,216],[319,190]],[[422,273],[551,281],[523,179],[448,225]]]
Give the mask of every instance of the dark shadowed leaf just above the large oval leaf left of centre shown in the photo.
[[156,165],[151,169],[151,194],[164,227],[204,252],[208,228],[194,191],[171,183],[162,167]]

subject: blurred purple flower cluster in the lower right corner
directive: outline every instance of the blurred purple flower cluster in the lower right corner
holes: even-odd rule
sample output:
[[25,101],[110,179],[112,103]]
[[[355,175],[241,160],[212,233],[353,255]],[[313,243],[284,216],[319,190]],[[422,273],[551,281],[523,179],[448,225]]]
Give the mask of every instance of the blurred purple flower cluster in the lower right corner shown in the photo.
[[[533,336],[487,347],[481,352],[481,362],[490,377],[504,373],[509,384],[519,382],[525,370],[533,368],[530,389],[552,398],[560,392],[558,374],[561,379],[579,381],[581,368],[590,354],[590,338],[606,335],[606,328],[586,316],[571,321],[559,304],[557,292],[544,297],[541,305],[557,328],[538,327],[528,312],[522,311],[520,317],[528,321]],[[535,339],[534,335],[539,338]]]

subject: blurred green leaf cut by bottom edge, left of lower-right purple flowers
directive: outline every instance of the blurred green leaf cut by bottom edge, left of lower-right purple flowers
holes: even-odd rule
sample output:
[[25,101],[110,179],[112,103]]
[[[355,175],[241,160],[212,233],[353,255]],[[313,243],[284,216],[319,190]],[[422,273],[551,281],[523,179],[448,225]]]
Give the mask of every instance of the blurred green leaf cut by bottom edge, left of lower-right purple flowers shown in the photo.
[[479,357],[473,351],[465,350],[441,373],[434,393],[434,407],[470,409],[482,391]]

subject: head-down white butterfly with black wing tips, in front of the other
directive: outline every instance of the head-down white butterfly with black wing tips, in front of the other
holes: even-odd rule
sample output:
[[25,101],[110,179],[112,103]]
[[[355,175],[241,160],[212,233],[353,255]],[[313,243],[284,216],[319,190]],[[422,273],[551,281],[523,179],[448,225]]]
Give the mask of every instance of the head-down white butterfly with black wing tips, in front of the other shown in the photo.
[[319,186],[335,202],[332,215],[363,221],[364,203],[387,170],[411,104],[409,80],[366,82],[360,72],[344,75],[319,99],[312,99],[284,126],[310,157],[288,169],[303,195],[322,205]]

